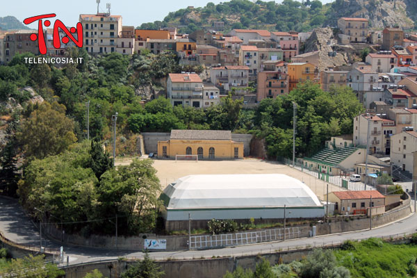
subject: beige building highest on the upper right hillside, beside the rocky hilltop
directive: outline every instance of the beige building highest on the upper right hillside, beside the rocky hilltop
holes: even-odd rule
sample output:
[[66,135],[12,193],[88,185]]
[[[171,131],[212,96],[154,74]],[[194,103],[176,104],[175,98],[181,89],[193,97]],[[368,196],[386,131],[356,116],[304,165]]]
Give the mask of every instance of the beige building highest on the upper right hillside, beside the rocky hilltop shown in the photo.
[[368,19],[359,17],[341,17],[337,26],[350,42],[366,42],[368,37]]

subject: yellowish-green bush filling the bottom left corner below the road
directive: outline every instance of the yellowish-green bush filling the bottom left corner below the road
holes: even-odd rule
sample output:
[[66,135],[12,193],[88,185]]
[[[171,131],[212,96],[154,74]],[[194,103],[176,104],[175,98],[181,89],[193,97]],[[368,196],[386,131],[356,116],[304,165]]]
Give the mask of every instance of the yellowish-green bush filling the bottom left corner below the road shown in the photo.
[[64,270],[52,263],[44,263],[44,256],[28,255],[22,259],[12,259],[0,269],[0,275],[17,278],[56,278],[65,275]]

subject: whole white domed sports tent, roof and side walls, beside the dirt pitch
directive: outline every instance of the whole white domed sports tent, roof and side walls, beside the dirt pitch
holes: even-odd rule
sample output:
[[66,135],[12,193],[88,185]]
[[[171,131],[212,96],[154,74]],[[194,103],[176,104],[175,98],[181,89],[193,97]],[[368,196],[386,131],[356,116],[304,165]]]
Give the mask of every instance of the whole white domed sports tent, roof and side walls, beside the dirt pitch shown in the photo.
[[190,175],[168,185],[161,199],[166,207],[163,216],[167,230],[188,227],[188,213],[195,228],[213,218],[282,219],[284,205],[287,218],[325,215],[313,191],[285,174]]

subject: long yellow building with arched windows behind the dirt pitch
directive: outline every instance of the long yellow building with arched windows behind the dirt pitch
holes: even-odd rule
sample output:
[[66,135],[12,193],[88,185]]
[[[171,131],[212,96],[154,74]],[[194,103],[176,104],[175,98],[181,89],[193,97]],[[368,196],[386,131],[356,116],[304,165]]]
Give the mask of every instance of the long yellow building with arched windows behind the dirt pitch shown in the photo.
[[243,158],[243,142],[231,140],[231,131],[172,129],[170,140],[158,141],[158,157],[177,155],[197,155],[199,160]]

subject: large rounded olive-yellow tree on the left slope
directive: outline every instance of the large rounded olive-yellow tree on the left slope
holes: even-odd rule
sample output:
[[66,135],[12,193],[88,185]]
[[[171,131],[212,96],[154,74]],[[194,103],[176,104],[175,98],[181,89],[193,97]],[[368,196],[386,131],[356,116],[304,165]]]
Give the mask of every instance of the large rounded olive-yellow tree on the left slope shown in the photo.
[[22,122],[17,139],[26,158],[59,154],[76,142],[74,122],[65,116],[65,106],[44,102]]

